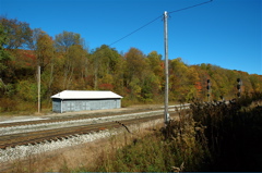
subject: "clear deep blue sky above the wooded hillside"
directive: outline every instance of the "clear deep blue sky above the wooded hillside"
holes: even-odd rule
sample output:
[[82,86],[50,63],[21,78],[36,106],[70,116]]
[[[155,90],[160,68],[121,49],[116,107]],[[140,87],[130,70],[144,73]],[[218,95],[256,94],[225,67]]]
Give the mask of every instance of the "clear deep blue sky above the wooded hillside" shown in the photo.
[[[163,15],[209,0],[0,0],[0,15],[27,22],[55,38],[78,33],[90,50],[110,45],[164,57],[164,21],[157,18],[129,37],[112,42]],[[213,0],[169,13],[169,59],[211,63],[262,75],[262,0]]]

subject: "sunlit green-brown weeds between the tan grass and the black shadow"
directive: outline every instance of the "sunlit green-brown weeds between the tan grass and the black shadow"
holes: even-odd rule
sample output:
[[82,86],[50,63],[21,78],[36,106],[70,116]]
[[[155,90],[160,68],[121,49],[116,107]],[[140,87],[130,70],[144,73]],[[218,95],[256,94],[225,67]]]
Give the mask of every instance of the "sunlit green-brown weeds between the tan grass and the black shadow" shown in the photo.
[[[143,138],[102,155],[95,168],[103,172],[170,172],[199,171],[210,162],[204,126],[192,114],[180,114],[179,121],[170,121],[165,128],[154,131]],[[129,135],[129,134],[126,134]]]

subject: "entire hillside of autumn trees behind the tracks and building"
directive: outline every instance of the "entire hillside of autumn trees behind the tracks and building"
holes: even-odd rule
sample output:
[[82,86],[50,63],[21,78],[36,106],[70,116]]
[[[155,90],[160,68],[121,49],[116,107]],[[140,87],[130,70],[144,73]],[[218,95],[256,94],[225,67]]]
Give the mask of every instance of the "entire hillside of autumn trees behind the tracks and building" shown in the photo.
[[[123,106],[164,100],[164,61],[158,52],[130,48],[120,53],[107,45],[88,50],[80,34],[64,30],[52,38],[26,22],[0,17],[0,112],[36,110],[38,65],[44,108],[51,108],[50,96],[66,89],[112,90],[123,96]],[[172,59],[169,100],[206,100],[207,79],[213,99],[231,99],[237,78],[242,79],[243,92],[262,91],[262,75]]]

